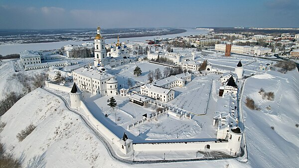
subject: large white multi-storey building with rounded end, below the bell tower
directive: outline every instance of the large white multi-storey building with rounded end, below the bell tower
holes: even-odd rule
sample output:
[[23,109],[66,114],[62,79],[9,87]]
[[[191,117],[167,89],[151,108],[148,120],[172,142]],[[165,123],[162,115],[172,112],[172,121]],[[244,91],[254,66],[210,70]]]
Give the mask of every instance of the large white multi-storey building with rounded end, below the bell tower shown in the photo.
[[72,72],[74,82],[81,90],[92,94],[118,95],[118,82],[114,75],[99,67],[83,67]]

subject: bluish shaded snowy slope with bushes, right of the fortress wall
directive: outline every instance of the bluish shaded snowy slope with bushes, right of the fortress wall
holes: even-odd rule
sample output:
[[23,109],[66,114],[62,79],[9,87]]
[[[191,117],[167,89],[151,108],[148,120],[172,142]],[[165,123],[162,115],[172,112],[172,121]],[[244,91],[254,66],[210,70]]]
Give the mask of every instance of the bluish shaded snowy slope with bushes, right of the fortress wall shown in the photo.
[[[253,168],[298,168],[299,165],[299,73],[268,71],[248,78],[244,99],[252,98],[261,111],[243,104],[249,164]],[[275,93],[263,100],[258,91]],[[271,110],[266,107],[271,105]],[[271,129],[274,127],[274,130]]]

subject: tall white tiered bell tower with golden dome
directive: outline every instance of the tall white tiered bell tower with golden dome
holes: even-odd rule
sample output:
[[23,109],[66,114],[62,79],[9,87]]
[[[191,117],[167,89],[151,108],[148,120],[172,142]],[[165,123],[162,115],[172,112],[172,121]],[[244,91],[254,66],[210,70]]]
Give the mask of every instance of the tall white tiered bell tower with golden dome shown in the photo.
[[97,28],[97,35],[95,37],[95,66],[107,65],[107,53],[105,48],[105,39],[102,37],[101,28]]

